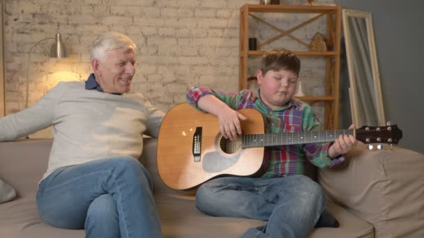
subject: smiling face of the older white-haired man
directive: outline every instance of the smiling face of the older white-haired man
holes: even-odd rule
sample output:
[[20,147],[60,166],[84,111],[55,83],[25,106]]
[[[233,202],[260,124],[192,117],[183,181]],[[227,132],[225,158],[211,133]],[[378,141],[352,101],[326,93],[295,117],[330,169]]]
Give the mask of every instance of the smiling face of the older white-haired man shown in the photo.
[[128,93],[135,74],[133,49],[105,51],[103,56],[91,61],[96,82],[105,93]]

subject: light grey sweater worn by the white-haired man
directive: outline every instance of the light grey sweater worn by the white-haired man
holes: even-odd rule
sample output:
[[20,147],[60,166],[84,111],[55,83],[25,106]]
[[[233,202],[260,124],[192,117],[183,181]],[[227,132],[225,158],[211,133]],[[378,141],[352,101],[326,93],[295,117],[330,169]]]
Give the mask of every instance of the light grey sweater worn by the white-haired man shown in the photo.
[[94,159],[120,155],[137,159],[142,134],[157,137],[163,116],[141,93],[113,95],[86,90],[84,82],[61,82],[29,109],[1,118],[0,141],[53,125],[44,179],[56,168]]

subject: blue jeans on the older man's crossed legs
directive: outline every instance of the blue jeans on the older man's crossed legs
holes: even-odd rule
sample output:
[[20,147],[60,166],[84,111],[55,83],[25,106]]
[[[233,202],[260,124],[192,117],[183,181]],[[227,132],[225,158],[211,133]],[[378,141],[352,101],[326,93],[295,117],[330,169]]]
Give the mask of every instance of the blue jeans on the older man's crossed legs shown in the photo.
[[85,228],[86,237],[162,237],[151,177],[132,157],[54,170],[38,187],[37,206],[46,223]]

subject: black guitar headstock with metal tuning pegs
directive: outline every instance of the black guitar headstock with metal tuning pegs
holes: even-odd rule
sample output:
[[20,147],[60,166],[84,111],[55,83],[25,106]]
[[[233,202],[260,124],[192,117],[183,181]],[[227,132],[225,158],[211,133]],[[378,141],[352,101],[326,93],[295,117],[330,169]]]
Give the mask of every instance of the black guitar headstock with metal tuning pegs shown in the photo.
[[402,138],[402,131],[398,125],[388,125],[384,127],[363,126],[356,129],[356,139],[363,143],[386,143],[398,145]]

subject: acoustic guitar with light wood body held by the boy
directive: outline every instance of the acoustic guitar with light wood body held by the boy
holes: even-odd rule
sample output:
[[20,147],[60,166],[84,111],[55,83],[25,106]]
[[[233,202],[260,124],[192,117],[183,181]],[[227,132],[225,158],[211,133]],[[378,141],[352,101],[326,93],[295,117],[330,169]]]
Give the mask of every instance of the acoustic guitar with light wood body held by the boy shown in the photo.
[[243,134],[230,141],[220,134],[218,118],[189,104],[174,106],[165,115],[158,136],[158,172],[172,189],[197,187],[223,175],[252,176],[262,166],[264,147],[335,141],[351,134],[363,143],[398,144],[396,125],[330,131],[264,134],[264,119],[255,109],[242,109]]

